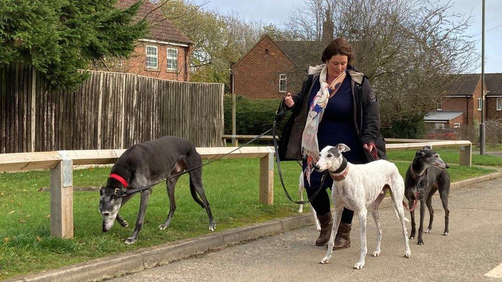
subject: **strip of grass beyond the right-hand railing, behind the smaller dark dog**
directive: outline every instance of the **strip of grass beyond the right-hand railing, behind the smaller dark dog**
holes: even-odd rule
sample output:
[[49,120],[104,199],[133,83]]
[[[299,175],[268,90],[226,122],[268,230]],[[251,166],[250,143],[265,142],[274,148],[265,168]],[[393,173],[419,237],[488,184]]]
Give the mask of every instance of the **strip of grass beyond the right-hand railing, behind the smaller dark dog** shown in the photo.
[[[459,163],[460,156],[458,151],[454,151],[452,148],[439,148],[436,152],[441,156],[441,159],[447,164]],[[387,152],[387,156],[391,160],[404,160],[411,161],[415,157],[417,151],[390,151]],[[487,166],[502,166],[502,158],[491,155],[476,155],[472,154],[472,164],[473,165],[487,165]]]

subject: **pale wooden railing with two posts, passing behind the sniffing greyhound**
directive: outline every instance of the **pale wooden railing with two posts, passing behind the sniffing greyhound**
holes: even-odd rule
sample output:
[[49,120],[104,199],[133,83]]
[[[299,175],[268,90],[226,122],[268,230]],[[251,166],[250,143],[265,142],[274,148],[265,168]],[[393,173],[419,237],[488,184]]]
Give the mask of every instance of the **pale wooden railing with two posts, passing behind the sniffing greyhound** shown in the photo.
[[[223,156],[233,147],[200,147],[203,159]],[[14,153],[0,155],[0,172],[50,170],[50,234],[73,238],[73,165],[113,164],[125,149]],[[260,158],[260,202],[274,203],[274,150],[244,147],[225,159]]]

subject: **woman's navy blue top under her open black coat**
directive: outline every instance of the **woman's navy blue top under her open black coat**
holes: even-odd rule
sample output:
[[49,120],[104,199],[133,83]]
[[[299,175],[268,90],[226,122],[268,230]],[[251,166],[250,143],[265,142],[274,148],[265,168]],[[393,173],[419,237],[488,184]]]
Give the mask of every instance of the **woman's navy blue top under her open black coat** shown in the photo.
[[[320,82],[319,79],[316,79],[312,85],[312,91],[309,96],[309,108],[319,88]],[[342,86],[340,86],[335,95],[328,100],[328,105],[324,110],[319,128],[317,129],[317,140],[319,142],[319,151],[326,146],[335,146],[338,143],[344,143],[350,148],[349,152],[343,153],[349,162],[354,164],[368,162],[363,151],[363,144],[355,128],[352,84],[348,73]],[[307,161],[303,160],[303,170],[306,166]],[[319,187],[321,175],[321,173],[312,172],[310,182],[313,189]],[[331,177],[327,177],[324,186],[331,187],[332,184],[333,180]],[[310,189],[310,185],[306,179],[305,188]]]

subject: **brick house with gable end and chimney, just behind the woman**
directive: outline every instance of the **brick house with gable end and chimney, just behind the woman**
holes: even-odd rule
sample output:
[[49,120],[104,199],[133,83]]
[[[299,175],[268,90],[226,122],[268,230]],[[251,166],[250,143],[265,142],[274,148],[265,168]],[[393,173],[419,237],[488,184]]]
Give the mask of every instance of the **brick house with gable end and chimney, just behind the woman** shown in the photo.
[[[331,18],[327,12],[327,18]],[[323,24],[322,41],[274,41],[264,34],[238,62],[230,64],[230,93],[274,99],[296,93],[310,65],[333,40],[333,23]]]

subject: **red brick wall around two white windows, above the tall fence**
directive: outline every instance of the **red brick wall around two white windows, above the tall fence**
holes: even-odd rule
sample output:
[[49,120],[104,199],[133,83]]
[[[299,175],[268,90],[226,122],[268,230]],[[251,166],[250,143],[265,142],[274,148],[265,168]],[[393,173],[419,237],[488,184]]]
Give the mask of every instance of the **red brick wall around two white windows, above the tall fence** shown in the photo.
[[[146,67],[146,45],[157,46],[157,69],[147,69]],[[178,70],[167,70],[167,48],[178,49]],[[136,73],[140,76],[175,80],[175,81],[189,81],[190,68],[187,68],[187,61],[190,58],[189,47],[174,46],[159,43],[140,42],[131,55],[131,58],[126,62],[127,72]],[[188,70],[185,72],[185,70]]]

